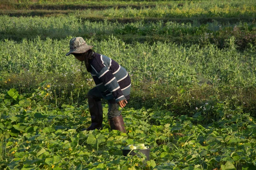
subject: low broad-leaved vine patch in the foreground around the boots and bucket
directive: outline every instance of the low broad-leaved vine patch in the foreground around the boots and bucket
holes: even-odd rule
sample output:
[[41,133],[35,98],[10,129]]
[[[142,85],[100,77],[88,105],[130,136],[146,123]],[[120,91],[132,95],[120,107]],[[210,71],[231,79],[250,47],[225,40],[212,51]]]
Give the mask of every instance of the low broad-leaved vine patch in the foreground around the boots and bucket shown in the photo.
[[[15,89],[0,96],[0,167],[7,169],[225,169],[255,168],[255,119],[248,113],[222,114],[219,120],[204,120],[170,111],[125,109],[128,133],[109,130],[80,131],[90,122],[86,105],[62,105],[62,109],[34,107],[40,102],[25,98]],[[106,116],[107,105],[104,107]],[[145,157],[122,156],[126,144],[151,147]]]

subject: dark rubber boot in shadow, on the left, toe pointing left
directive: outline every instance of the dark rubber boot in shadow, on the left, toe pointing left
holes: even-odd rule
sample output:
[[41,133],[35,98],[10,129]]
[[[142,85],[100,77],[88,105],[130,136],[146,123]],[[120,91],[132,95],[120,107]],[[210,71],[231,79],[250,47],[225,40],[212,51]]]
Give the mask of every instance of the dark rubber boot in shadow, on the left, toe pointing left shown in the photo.
[[103,110],[101,99],[88,97],[88,104],[92,123],[90,127],[82,130],[102,129]]

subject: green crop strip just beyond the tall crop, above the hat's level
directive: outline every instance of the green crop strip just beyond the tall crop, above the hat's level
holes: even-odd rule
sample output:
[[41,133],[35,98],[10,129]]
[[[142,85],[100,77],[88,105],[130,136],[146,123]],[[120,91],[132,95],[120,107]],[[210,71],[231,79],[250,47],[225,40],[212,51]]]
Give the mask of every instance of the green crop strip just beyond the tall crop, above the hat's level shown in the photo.
[[[214,23],[200,24],[159,21],[157,23],[112,23],[90,22],[70,17],[8,17],[1,16],[1,39],[22,40],[38,36],[41,39],[63,39],[67,36],[81,36],[96,40],[106,39],[111,35],[127,43],[133,42],[175,42],[177,44],[215,44],[219,48],[227,46],[227,40],[235,37],[234,45],[245,49],[256,45],[255,23]],[[43,23],[43,24],[42,24]],[[136,35],[136,36],[134,36]]]

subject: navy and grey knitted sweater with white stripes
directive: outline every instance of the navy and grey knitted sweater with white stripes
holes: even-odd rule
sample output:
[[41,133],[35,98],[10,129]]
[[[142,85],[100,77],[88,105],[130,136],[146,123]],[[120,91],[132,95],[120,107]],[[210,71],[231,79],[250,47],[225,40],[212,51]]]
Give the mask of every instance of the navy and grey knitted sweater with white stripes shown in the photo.
[[102,97],[107,100],[115,99],[118,103],[121,100],[130,98],[131,79],[128,72],[113,59],[94,53],[95,57],[90,60],[96,87]]

